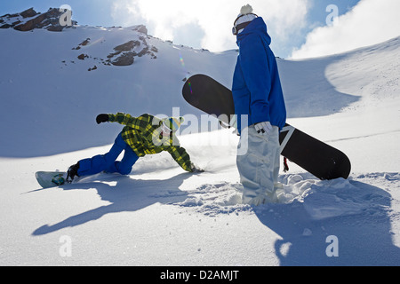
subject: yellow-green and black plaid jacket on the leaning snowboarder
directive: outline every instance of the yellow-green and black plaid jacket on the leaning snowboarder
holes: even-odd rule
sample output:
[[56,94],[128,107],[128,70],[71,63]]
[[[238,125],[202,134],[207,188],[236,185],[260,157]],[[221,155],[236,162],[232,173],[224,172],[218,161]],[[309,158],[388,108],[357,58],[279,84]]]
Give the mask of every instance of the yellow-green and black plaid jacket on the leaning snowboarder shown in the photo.
[[117,113],[108,114],[108,121],[126,125],[122,130],[122,138],[139,157],[167,151],[183,170],[192,171],[190,156],[185,148],[180,146],[173,132],[169,137],[163,136],[160,128],[162,120],[156,116],[142,114],[133,117],[131,114]]

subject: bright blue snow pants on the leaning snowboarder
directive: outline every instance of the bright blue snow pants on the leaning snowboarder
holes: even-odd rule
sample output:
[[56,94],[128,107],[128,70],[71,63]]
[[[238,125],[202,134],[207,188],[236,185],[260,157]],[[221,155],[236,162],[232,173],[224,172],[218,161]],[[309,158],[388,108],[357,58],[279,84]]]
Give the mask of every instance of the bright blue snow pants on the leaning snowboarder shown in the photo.
[[[116,161],[123,150],[125,151],[124,158],[121,162]],[[99,154],[90,159],[79,161],[77,174],[79,177],[83,177],[106,171],[108,173],[119,172],[121,175],[128,175],[132,171],[133,164],[138,161],[138,159],[138,155],[125,143],[121,133],[119,133],[114,145],[107,154]]]

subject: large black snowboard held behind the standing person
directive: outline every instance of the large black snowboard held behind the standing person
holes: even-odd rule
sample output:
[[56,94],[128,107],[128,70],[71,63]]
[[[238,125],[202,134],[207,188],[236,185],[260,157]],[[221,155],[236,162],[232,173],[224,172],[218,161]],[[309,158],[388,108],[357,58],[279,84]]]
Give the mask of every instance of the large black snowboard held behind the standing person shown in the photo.
[[[225,123],[235,114],[232,92],[207,75],[193,75],[183,86],[183,98]],[[226,115],[221,115],[226,114]],[[286,124],[279,136],[281,154],[320,179],[348,178],[351,164],[346,154]]]

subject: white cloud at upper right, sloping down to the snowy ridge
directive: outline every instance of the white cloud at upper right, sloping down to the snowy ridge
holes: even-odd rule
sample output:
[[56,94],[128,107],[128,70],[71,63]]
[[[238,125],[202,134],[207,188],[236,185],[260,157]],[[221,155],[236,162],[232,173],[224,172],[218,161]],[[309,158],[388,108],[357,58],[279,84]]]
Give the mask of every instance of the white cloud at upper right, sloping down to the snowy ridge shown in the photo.
[[361,0],[333,26],[316,28],[293,59],[324,56],[400,36],[399,0]]

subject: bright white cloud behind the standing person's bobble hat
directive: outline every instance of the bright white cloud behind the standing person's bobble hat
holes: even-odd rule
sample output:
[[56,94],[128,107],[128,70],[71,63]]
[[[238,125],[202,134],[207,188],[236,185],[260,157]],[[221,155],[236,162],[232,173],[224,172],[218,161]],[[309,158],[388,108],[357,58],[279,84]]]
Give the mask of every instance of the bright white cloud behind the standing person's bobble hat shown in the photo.
[[[254,12],[268,23],[269,31],[279,41],[303,28],[310,0],[252,0]],[[173,40],[177,29],[190,29],[201,37],[203,48],[224,51],[236,48],[236,37],[231,29],[244,0],[115,0],[112,16],[123,26],[143,23],[149,34],[164,40]],[[180,37],[182,32],[178,33]]]

